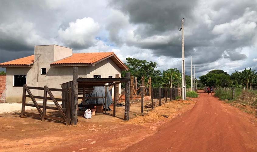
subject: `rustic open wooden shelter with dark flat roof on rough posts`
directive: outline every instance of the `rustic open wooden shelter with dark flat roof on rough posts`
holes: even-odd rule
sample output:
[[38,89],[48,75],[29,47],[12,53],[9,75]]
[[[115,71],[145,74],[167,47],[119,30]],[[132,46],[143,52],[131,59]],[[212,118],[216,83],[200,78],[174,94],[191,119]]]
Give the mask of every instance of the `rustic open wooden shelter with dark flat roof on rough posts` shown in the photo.
[[[125,114],[124,114],[124,120],[129,120],[129,95],[130,95],[130,73],[126,73],[126,78],[78,78],[78,67],[73,67],[73,81],[69,81],[66,83],[61,84],[62,89],[66,89],[68,87],[71,87],[72,97],[71,97],[71,124],[76,125],[78,121],[78,99],[82,99],[84,102],[86,98],[105,98],[105,103],[103,105],[106,105],[106,87],[113,86],[120,83],[126,83],[125,87]],[[88,94],[94,90],[93,87],[96,86],[102,86],[105,87],[105,96],[101,97],[85,97],[85,94]],[[114,92],[116,92],[116,88],[114,87]],[[83,97],[78,97],[78,95],[83,95]],[[62,94],[63,98],[65,98],[67,95],[64,92]],[[115,116],[116,112],[116,94],[114,93],[114,100],[113,100],[113,116]],[[63,103],[63,106],[65,107],[65,103]],[[82,106],[89,106],[89,105],[80,105]],[[106,113],[106,106],[105,106],[105,112]]]

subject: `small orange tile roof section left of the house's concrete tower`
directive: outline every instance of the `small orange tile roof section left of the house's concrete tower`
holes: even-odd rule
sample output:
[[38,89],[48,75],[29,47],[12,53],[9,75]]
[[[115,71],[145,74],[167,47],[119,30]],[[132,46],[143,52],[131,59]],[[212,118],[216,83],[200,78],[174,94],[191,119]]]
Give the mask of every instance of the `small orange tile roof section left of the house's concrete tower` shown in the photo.
[[34,55],[1,63],[1,65],[29,65],[34,63]]

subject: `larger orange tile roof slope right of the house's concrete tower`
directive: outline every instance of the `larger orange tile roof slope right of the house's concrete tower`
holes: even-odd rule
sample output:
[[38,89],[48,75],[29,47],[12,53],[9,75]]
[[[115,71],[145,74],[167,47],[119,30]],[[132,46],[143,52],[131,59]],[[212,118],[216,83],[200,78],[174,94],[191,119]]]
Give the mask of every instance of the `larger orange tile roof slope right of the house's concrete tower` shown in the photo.
[[75,53],[72,56],[58,60],[52,64],[93,64],[103,58],[109,57],[113,52]]

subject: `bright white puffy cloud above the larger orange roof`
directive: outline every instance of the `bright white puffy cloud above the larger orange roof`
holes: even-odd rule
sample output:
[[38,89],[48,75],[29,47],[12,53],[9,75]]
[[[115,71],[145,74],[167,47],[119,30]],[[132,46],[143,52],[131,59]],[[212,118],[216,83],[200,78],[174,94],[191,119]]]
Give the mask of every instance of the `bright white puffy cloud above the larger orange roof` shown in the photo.
[[96,35],[99,32],[99,24],[88,17],[70,22],[65,30],[59,29],[59,37],[68,46],[74,48],[87,48],[96,43]]

